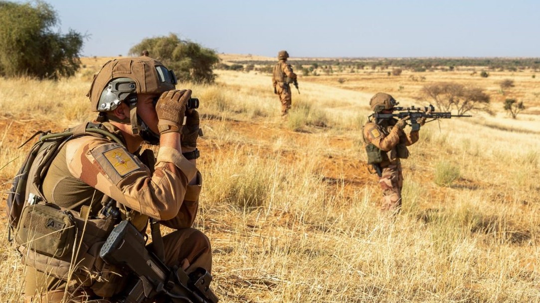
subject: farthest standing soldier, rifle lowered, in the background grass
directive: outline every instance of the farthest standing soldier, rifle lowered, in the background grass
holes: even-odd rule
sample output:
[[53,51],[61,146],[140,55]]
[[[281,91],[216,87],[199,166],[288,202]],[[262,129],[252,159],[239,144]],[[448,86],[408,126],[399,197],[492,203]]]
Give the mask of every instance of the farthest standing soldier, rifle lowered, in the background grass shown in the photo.
[[291,64],[287,63],[289,53],[280,51],[278,53],[278,63],[274,66],[272,74],[272,84],[274,85],[274,94],[279,95],[281,101],[281,115],[287,115],[291,108],[291,86],[296,81],[296,74],[293,72]]

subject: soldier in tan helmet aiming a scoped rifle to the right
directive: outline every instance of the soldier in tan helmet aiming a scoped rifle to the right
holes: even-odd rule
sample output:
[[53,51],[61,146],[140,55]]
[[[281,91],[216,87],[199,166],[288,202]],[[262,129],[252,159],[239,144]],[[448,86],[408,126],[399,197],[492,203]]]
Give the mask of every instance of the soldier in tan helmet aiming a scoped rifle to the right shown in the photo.
[[[369,101],[369,106],[375,113],[392,113],[396,105],[396,100],[386,93],[376,93]],[[407,146],[419,139],[417,130],[409,134],[403,131],[407,119],[408,116],[400,120],[394,118],[369,120],[362,128],[368,164],[371,164],[379,175],[383,195],[381,209],[392,211],[394,214],[401,208],[403,175],[400,159],[409,157]],[[418,122],[424,125],[426,118],[421,118]]]

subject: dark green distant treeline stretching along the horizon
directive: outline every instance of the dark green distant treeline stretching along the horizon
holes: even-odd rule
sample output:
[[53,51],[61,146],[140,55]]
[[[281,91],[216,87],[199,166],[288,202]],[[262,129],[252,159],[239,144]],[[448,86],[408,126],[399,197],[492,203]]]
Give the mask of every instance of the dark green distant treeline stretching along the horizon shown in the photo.
[[[399,67],[407,70],[454,70],[456,67],[481,66],[489,70],[517,71],[531,68],[540,70],[540,58],[343,58],[332,60],[288,60],[295,66],[342,66],[343,68],[364,69],[387,69],[389,67]],[[269,61],[262,60],[237,60],[231,61],[240,65],[273,65]]]

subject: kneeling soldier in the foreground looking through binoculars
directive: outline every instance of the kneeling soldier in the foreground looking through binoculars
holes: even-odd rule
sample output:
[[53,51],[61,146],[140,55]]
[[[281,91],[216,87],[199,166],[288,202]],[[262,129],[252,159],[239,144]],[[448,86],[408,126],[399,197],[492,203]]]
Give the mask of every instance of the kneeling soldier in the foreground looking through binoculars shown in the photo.
[[[129,290],[125,288],[130,285],[129,272],[104,264],[97,253],[120,220],[129,221],[143,234],[150,221],[153,244],[149,249],[171,270],[211,271],[210,242],[191,228],[202,184],[195,167],[199,114],[188,108],[194,100],[191,90],[177,90],[176,84],[174,73],[150,57],[107,62],[87,95],[93,111],[99,113],[97,120],[72,128],[72,135],[66,135],[53,150],[45,173],[34,177],[35,167],[43,166],[33,162],[33,182],[24,194],[32,207],[22,211],[16,234],[27,266],[25,302],[116,302],[115,295]],[[140,153],[144,142],[159,144],[157,159],[147,153],[150,149]],[[29,220],[28,214],[35,219]],[[49,243],[58,240],[47,236],[58,232],[47,231],[62,231],[66,223],[55,218],[66,214],[80,228],[62,238],[65,245],[60,248],[68,252],[51,251]],[[161,238],[159,223],[174,231]],[[21,232],[25,229],[42,231],[45,236],[29,244]],[[80,247],[73,257],[66,247],[77,246],[73,243],[78,240]]]

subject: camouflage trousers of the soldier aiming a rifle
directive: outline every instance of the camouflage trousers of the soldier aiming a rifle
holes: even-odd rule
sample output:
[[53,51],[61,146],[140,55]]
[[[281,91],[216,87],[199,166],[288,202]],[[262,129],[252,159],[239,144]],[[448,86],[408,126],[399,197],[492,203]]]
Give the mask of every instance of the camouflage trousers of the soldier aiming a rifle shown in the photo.
[[401,208],[401,189],[403,188],[403,174],[400,162],[394,162],[382,168],[379,185],[382,189],[381,209],[398,212]]

